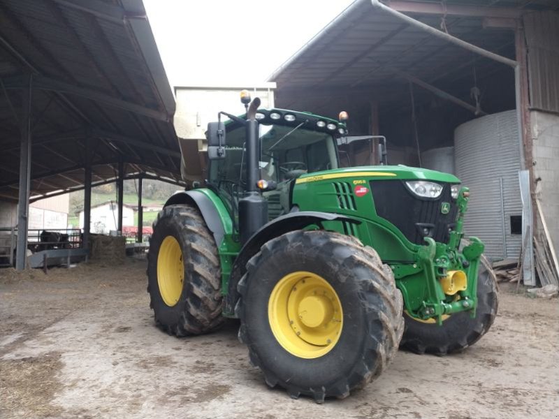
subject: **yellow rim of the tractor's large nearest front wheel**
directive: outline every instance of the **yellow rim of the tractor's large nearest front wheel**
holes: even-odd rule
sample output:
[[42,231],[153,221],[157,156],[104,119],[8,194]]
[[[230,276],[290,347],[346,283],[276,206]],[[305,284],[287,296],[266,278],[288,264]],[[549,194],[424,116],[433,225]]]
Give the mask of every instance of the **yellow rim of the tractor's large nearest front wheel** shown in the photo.
[[268,300],[270,328],[283,348],[299,358],[319,358],[337,344],[342,303],[326,279],[293,272],[275,285]]

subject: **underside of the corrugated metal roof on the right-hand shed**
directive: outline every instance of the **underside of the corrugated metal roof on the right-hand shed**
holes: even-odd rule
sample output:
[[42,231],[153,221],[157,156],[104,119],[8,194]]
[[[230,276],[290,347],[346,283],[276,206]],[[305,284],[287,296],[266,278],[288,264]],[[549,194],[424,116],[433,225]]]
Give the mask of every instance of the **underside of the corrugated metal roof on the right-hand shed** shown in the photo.
[[[515,57],[514,27],[510,19],[495,20],[493,15],[518,17],[532,9],[549,10],[559,6],[551,0],[393,0],[386,3],[394,8],[434,10],[433,13],[405,13],[430,27],[446,29],[463,41],[511,59]],[[444,7],[455,7],[458,11],[445,15]],[[493,21],[489,22],[488,18]],[[402,23],[374,8],[370,0],[356,0],[277,68],[269,80],[277,82],[279,105],[300,110],[318,108],[321,113],[333,116],[337,111],[328,108],[328,103],[339,107],[342,100],[351,103],[375,100],[382,102],[386,109],[401,102],[402,97],[409,96],[407,79],[398,75],[402,71],[468,98],[474,68],[478,78],[507,71],[503,64]],[[469,85],[466,91],[464,84]],[[419,89],[419,102],[423,93]],[[425,100],[429,97],[430,94],[423,96]]]

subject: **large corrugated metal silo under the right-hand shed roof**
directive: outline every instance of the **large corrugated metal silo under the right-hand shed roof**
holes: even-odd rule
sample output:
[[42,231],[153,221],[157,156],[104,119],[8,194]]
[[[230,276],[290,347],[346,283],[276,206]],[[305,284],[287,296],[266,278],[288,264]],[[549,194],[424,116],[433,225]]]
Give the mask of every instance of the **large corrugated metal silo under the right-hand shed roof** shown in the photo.
[[490,258],[517,258],[522,235],[511,234],[511,216],[522,215],[516,110],[458,126],[454,147],[456,175],[472,193],[464,223],[466,235],[479,237]]

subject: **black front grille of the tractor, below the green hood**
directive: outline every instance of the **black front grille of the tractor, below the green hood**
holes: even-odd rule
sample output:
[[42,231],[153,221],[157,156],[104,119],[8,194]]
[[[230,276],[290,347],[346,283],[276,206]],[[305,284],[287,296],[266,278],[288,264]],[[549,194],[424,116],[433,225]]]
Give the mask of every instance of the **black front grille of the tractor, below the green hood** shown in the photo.
[[[454,228],[458,214],[450,184],[443,184],[437,199],[415,196],[400,180],[373,180],[370,186],[377,215],[393,223],[407,240],[415,244],[425,244],[424,237],[441,243],[449,241],[449,230]],[[448,214],[442,214],[442,203],[450,204]]]

